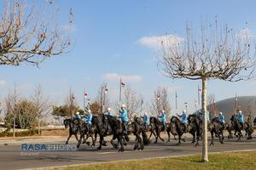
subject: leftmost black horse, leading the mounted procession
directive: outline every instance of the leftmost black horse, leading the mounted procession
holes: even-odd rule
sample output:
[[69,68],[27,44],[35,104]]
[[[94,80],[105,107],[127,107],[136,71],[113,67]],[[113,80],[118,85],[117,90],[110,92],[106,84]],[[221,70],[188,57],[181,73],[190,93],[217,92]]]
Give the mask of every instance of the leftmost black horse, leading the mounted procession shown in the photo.
[[64,126],[65,128],[69,127],[68,129],[68,137],[67,137],[67,142],[66,144],[68,144],[68,141],[70,139],[70,137],[72,135],[75,136],[75,138],[79,141],[79,137],[78,137],[78,133],[79,133],[79,120],[76,118],[66,118],[64,120]]

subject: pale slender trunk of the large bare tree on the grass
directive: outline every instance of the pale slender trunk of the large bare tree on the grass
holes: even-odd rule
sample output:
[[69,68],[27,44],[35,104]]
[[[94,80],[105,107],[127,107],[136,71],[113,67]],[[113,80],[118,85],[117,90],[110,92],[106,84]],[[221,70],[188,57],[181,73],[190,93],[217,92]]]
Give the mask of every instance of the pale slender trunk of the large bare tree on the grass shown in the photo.
[[208,161],[208,148],[207,148],[207,78],[202,77],[202,94],[201,94],[201,106],[203,111],[203,120],[202,120],[202,156],[201,161]]

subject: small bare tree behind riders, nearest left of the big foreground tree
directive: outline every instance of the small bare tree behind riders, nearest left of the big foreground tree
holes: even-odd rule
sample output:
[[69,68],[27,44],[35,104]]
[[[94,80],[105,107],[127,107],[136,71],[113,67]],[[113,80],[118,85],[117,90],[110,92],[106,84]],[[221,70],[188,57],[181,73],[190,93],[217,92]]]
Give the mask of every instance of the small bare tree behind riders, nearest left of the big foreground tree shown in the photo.
[[168,89],[159,87],[154,91],[154,98],[151,100],[150,111],[153,115],[159,115],[161,110],[166,111],[166,116],[171,115],[171,104],[169,101]]

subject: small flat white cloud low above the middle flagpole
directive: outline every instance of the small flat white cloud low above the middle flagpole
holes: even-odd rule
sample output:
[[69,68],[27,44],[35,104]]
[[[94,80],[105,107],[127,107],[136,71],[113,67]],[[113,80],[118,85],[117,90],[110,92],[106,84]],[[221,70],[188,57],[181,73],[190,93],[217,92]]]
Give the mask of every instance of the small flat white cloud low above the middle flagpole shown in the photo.
[[118,73],[107,73],[103,75],[103,79],[110,81],[119,81],[122,78],[124,82],[140,82],[142,77],[139,75],[119,75]]

